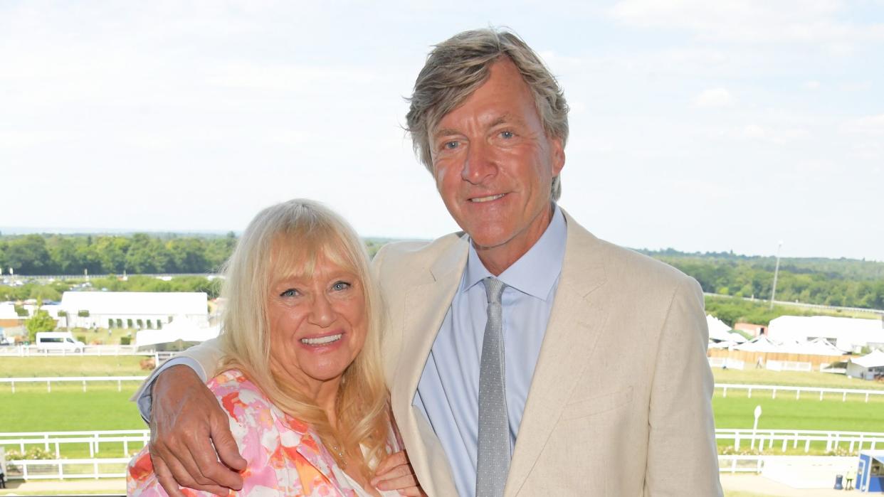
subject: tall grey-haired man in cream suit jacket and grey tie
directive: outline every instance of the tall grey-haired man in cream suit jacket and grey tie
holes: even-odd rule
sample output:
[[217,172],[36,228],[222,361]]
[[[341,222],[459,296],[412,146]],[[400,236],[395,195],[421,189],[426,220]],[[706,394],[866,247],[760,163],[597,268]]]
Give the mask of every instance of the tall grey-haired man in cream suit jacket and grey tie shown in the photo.
[[[431,495],[720,495],[702,292],[555,205],[567,113],[505,31],[455,35],[417,78],[408,129],[465,234],[373,262],[410,462]],[[240,462],[198,382],[156,381],[152,454],[179,483],[224,484],[206,439]]]

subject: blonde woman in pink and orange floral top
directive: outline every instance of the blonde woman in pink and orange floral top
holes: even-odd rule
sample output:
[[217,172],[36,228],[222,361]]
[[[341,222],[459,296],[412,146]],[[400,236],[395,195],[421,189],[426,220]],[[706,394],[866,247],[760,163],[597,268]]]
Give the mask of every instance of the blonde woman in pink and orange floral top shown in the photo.
[[[354,230],[310,200],[268,207],[225,275],[226,371],[209,387],[248,461],[238,494],[398,495],[370,486],[399,444],[380,367],[380,305]],[[147,448],[129,465],[127,490],[165,494]]]

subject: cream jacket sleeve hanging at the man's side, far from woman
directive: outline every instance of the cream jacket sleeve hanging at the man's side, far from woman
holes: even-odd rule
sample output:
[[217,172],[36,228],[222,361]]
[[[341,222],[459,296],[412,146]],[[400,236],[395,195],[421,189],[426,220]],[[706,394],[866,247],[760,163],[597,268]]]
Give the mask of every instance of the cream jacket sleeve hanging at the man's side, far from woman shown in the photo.
[[713,375],[703,291],[692,278],[675,288],[659,335],[649,412],[645,495],[720,496],[712,410]]

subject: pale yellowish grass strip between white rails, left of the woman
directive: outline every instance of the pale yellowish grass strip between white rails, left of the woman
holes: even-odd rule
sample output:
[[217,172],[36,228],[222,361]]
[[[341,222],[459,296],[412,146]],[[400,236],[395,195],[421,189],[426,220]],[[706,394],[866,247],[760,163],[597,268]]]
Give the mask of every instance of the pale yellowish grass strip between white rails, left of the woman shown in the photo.
[[[147,376],[139,362],[147,356],[82,356],[63,358],[0,358],[0,377]],[[16,385],[18,389],[19,386]],[[54,386],[53,386],[54,388]],[[0,392],[4,388],[0,387]],[[45,392],[45,388],[43,388]]]

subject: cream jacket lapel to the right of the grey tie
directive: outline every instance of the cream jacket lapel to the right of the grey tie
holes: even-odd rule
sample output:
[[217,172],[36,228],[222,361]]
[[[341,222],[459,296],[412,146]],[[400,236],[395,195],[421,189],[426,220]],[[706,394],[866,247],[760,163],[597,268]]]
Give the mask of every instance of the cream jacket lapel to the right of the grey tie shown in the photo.
[[537,463],[576,381],[587,367],[607,311],[598,293],[606,281],[598,240],[566,213],[568,240],[559,286],[531,380],[528,401],[507,477],[507,495],[518,493]]

